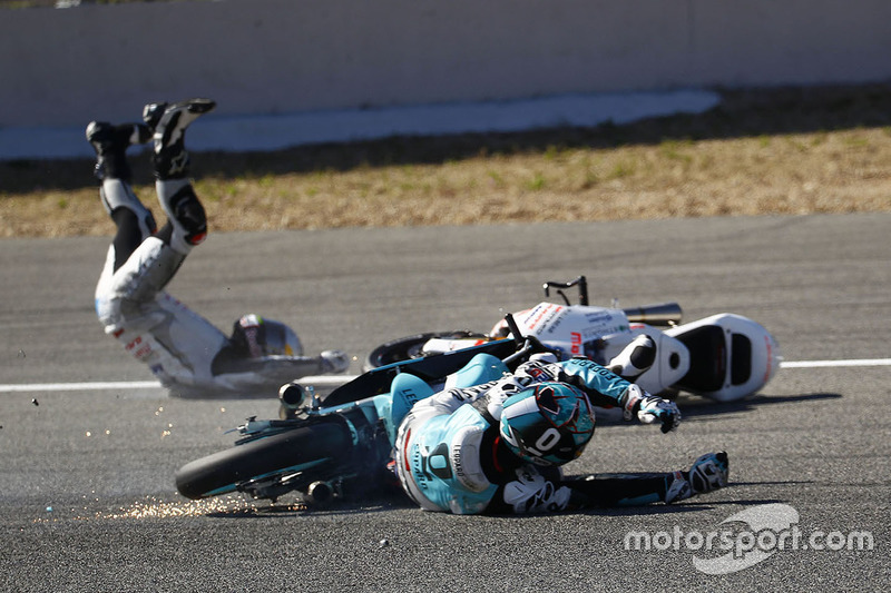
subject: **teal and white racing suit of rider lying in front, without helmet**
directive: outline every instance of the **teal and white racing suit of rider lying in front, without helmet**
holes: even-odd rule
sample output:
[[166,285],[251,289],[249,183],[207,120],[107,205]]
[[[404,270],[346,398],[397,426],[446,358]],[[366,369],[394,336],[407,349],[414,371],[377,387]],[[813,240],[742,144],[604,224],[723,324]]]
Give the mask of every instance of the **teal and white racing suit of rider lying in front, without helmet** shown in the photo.
[[399,426],[394,461],[405,493],[427,511],[456,514],[538,513],[667,500],[674,482],[683,481],[682,472],[565,480],[559,467],[533,465],[513,455],[498,428],[505,401],[545,382],[576,386],[594,406],[618,407],[628,421],[662,423],[664,432],[679,422],[674,403],[585,358],[532,360],[500,379],[469,388],[449,388],[447,383],[443,391],[414,404]]

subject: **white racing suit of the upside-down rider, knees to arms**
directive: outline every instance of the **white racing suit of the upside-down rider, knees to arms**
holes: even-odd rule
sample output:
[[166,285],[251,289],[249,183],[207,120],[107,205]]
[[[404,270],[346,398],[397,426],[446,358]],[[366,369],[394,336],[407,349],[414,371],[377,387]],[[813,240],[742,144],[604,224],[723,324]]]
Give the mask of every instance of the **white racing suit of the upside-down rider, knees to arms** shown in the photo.
[[214,374],[214,358],[228,338],[163,290],[184,259],[185,255],[159,238],[148,237],[115,270],[111,246],[96,287],[96,313],[106,334],[115,336],[137,360],[148,365],[173,394],[274,395],[284,383],[330,370],[319,358],[270,356]]

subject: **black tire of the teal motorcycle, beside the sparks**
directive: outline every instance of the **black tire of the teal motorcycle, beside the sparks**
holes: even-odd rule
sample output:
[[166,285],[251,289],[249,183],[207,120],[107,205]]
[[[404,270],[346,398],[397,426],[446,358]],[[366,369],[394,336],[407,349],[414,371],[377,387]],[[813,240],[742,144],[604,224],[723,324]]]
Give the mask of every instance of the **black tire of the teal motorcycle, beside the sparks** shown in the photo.
[[258,476],[319,459],[342,459],[351,448],[352,437],[342,423],[301,426],[187,463],[176,473],[176,490],[194,500],[216,496]]

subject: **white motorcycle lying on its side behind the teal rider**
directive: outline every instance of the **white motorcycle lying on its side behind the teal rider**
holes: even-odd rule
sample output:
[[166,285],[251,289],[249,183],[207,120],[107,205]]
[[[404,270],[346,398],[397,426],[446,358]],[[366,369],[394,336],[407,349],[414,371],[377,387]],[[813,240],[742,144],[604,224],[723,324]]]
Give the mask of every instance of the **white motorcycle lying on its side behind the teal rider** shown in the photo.
[[[572,305],[565,290],[577,288]],[[535,336],[562,359],[585,356],[608,366],[635,338],[645,334],[656,346],[653,365],[634,378],[653,394],[686,392],[716,402],[733,402],[767,384],[780,367],[780,348],[762,325],[731,313],[681,324],[676,303],[633,308],[588,304],[585,276],[569,283],[548,281],[564,304],[542,302],[513,318],[523,335]],[[410,358],[434,356],[487,342],[512,337],[502,319],[488,333],[430,332],[394,339],[374,348],[365,358],[369,370]]]

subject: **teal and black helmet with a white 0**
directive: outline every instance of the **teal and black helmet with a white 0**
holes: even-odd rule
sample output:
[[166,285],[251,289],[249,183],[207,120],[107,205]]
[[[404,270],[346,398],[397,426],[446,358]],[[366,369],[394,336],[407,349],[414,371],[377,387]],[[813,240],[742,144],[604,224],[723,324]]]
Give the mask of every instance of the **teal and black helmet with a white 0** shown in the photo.
[[540,383],[505,401],[499,432],[508,448],[536,465],[562,465],[594,436],[588,396],[565,383]]

